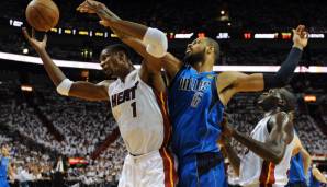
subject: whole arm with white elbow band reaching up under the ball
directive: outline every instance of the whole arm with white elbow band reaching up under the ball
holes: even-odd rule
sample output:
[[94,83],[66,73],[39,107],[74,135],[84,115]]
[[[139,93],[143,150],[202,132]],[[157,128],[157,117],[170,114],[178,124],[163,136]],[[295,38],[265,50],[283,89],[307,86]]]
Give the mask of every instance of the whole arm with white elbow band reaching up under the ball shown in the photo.
[[66,78],[63,71],[56,66],[56,63],[52,60],[49,55],[46,51],[46,42],[47,36],[45,35],[43,40],[40,42],[35,39],[34,30],[32,30],[32,36],[27,33],[26,28],[23,28],[23,34],[31,46],[36,50],[40,55],[44,68],[49,75],[50,80],[57,87],[57,92],[61,95],[66,96],[75,96],[79,98],[84,98],[89,101],[102,101],[108,100],[108,90],[104,84],[97,85],[89,82],[78,81],[72,82]]

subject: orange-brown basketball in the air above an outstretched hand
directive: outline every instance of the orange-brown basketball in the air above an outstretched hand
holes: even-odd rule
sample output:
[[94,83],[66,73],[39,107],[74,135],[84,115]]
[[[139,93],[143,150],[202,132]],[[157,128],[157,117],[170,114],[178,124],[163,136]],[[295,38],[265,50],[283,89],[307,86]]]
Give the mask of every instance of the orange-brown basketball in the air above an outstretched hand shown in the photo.
[[26,20],[37,31],[47,32],[59,21],[58,7],[52,0],[33,0],[26,8]]

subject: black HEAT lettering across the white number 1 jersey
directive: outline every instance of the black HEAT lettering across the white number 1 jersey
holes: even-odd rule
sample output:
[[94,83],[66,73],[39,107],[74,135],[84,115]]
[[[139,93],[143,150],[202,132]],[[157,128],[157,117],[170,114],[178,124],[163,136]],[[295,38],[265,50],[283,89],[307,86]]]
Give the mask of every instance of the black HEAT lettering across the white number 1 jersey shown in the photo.
[[137,89],[138,81],[135,83],[135,85],[131,89],[126,89],[123,92],[116,93],[111,96],[111,105],[112,107],[115,107],[122,103],[128,102],[131,100],[135,98],[135,91]]

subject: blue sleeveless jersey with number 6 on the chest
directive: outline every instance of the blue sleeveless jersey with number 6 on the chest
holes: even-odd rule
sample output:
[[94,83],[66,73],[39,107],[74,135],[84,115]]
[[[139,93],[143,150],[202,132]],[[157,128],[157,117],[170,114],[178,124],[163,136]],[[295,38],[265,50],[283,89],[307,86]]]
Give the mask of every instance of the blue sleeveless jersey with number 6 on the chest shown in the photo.
[[216,73],[198,73],[184,65],[169,87],[172,148],[179,157],[218,152],[224,105],[216,91]]

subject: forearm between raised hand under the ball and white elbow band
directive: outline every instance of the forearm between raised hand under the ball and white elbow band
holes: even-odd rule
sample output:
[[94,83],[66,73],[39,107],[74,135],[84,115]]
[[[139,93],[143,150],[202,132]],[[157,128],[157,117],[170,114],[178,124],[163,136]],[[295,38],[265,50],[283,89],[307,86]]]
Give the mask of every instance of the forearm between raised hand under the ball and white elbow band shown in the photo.
[[52,79],[53,83],[56,86],[58,86],[58,84],[60,84],[66,79],[66,75],[55,65],[55,62],[53,61],[53,59],[49,57],[49,55],[47,54],[47,51],[45,49],[37,50],[37,54],[40,55],[40,57],[43,61],[44,68],[46,70],[47,74],[49,75],[49,78]]

